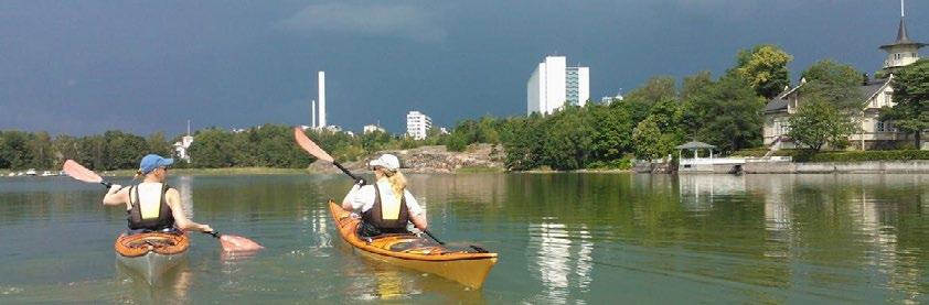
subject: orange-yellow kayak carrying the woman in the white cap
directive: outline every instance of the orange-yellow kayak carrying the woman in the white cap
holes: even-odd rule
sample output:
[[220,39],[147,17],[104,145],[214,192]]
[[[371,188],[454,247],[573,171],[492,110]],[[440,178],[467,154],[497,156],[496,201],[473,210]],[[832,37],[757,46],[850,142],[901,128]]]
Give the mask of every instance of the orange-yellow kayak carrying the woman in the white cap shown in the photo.
[[433,273],[474,290],[479,290],[490,269],[496,263],[496,253],[483,249],[452,250],[413,233],[383,235],[363,238],[357,235],[361,217],[329,201],[329,209],[339,233],[364,257],[394,265]]

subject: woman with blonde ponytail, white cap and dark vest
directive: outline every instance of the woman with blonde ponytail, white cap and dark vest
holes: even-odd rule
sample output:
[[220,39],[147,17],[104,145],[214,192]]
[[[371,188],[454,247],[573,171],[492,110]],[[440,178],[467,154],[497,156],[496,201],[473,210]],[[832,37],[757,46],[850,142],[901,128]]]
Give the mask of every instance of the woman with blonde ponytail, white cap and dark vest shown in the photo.
[[342,208],[361,210],[363,221],[359,226],[359,235],[406,233],[409,232],[407,222],[425,231],[428,226],[426,215],[406,189],[406,177],[399,172],[397,156],[383,154],[369,165],[374,171],[374,184],[364,185],[364,179],[359,179],[342,200]]

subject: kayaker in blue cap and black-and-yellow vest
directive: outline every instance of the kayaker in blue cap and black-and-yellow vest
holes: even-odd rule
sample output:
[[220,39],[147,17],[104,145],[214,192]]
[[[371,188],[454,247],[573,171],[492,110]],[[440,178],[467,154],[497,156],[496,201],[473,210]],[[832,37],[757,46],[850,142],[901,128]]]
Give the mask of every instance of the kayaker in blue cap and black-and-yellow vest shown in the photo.
[[174,164],[173,159],[165,159],[157,154],[142,157],[136,178],[142,182],[122,188],[114,184],[106,196],[104,205],[126,206],[127,220],[130,232],[151,231],[202,231],[211,232],[207,225],[196,224],[184,215],[181,205],[181,194],[178,189],[164,183],[168,168]]

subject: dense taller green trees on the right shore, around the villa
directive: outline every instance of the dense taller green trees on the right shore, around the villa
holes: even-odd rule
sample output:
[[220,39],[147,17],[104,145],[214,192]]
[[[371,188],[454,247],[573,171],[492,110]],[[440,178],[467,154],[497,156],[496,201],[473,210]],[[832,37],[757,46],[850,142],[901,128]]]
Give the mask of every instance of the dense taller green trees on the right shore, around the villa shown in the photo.
[[[740,51],[718,78],[708,72],[654,77],[609,105],[567,106],[551,116],[460,122],[447,137],[449,149],[478,142],[502,143],[511,170],[579,170],[628,166],[629,160],[674,155],[675,145],[696,140],[729,154],[762,144],[765,105],[790,86],[792,56],[773,45]],[[843,149],[859,131],[867,75],[847,64],[820,61],[802,72],[801,107],[791,115],[790,137],[801,150],[829,144]],[[905,67],[891,79],[896,106],[882,119],[904,133],[929,129],[929,61]]]

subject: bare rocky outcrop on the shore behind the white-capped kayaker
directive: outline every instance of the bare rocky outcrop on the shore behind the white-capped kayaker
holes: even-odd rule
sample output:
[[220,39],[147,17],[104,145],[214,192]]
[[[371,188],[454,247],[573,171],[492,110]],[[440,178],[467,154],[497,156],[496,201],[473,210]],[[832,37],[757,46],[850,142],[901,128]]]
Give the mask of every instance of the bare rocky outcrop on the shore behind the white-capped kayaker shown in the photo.
[[[505,171],[506,157],[500,144],[472,144],[463,152],[448,151],[445,145],[421,146],[410,150],[387,150],[369,155],[360,161],[342,163],[352,172],[369,172],[367,162],[384,153],[395,154],[401,160],[404,173],[444,174],[462,171]],[[338,173],[339,170],[327,162],[317,161],[308,168],[311,173]]]

